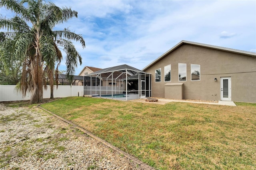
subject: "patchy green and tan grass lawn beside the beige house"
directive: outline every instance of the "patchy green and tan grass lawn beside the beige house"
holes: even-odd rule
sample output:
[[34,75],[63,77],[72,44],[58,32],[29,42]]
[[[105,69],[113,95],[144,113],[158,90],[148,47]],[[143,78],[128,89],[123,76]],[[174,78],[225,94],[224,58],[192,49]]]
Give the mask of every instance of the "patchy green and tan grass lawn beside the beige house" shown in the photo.
[[256,104],[236,104],[68,97],[41,106],[155,168],[256,169]]

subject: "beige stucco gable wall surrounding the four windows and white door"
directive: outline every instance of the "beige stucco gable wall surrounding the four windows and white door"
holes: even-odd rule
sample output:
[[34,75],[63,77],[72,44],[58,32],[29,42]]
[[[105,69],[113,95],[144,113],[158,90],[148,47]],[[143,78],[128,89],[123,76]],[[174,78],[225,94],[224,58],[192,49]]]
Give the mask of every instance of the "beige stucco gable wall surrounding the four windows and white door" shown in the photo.
[[[187,81],[178,81],[178,63],[187,64]],[[171,82],[164,82],[169,64]],[[191,81],[191,64],[200,65],[200,81]],[[159,68],[162,81],[155,82]],[[231,77],[231,101],[256,103],[255,57],[183,44],[144,71],[152,74],[152,97],[164,97],[166,83],[184,83],[183,99],[220,100],[220,77]]]

